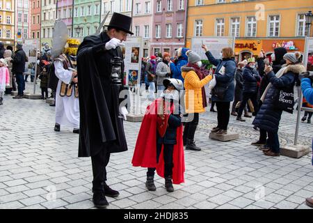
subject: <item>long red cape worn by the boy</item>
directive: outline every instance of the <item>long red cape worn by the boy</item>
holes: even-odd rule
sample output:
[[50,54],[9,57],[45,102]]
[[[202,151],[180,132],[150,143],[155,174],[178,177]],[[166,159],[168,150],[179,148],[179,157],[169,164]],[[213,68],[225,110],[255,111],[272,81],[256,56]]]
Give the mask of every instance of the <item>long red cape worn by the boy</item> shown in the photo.
[[[164,178],[164,159],[163,146],[157,163],[157,105],[162,99],[157,99],[148,105],[141,123],[138,138],[136,141],[133,160],[131,163],[134,167],[150,167],[156,168],[157,174]],[[182,125],[177,128],[176,134],[177,144],[174,145],[172,162],[172,183],[184,183],[184,145],[182,141]]]

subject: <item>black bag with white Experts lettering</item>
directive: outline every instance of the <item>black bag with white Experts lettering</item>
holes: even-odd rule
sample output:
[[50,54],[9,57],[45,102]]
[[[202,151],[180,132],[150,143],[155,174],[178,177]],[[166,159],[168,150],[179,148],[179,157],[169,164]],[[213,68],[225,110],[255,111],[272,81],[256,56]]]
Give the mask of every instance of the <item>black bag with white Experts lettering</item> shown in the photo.
[[294,113],[294,89],[280,89],[276,94],[274,106],[284,112]]

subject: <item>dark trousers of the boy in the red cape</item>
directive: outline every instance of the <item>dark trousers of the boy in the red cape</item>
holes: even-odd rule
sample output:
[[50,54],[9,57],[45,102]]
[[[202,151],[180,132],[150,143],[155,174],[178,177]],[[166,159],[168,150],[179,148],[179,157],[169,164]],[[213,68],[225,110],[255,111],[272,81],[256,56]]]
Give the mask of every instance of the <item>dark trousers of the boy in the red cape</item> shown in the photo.
[[[161,153],[162,144],[157,144],[157,161]],[[174,144],[164,144],[163,158],[164,158],[164,176],[172,176],[172,153],[174,151]],[[154,176],[155,168],[148,168],[147,176]]]

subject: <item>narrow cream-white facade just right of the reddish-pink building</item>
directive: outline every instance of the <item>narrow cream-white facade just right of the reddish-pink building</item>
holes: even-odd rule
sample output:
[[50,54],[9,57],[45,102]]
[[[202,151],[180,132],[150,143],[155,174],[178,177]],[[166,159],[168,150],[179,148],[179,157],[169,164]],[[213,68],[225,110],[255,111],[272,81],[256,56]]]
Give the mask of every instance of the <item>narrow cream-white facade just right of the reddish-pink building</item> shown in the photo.
[[56,21],[56,0],[42,0],[41,4],[41,45],[51,47],[52,33],[54,31],[54,23]]

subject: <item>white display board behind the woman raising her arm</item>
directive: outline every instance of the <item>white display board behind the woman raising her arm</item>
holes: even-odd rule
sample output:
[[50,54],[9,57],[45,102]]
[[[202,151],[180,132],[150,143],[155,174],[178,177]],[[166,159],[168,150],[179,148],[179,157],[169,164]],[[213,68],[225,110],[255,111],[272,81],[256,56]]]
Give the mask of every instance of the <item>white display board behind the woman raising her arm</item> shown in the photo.
[[221,59],[220,51],[224,47],[232,47],[234,49],[235,38],[234,37],[194,37],[191,40],[191,50],[201,56],[202,60],[207,60],[202,44],[207,45],[211,54],[216,59]]

